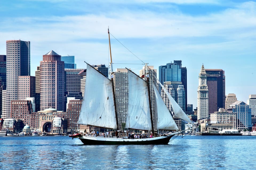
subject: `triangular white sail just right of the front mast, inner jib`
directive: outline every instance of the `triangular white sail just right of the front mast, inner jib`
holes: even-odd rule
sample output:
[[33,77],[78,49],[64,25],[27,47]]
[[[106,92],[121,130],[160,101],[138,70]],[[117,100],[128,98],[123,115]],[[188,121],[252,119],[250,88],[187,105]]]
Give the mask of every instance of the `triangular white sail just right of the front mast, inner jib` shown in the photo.
[[157,108],[157,129],[161,130],[179,130],[169,109],[166,107],[161,95],[159,94],[157,87],[154,86],[155,92],[155,104]]

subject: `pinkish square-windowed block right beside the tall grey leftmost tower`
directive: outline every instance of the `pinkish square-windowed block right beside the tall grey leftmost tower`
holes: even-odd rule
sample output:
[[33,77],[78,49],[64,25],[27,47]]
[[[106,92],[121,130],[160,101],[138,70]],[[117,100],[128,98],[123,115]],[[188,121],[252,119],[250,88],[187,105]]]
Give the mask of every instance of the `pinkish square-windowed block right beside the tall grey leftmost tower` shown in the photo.
[[18,100],[26,100],[27,97],[35,97],[35,77],[18,77]]

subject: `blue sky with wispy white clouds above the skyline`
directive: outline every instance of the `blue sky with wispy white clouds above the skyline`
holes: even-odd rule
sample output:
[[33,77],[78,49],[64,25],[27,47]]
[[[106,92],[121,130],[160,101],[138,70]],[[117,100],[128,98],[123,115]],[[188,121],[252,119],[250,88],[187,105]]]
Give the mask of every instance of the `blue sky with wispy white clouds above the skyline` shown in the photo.
[[75,56],[78,69],[109,66],[109,28],[114,70],[181,60],[193,108],[202,65],[225,71],[226,95],[246,103],[256,94],[256,1],[1,1],[0,25],[0,55],[6,40],[30,41],[32,76],[51,50]]

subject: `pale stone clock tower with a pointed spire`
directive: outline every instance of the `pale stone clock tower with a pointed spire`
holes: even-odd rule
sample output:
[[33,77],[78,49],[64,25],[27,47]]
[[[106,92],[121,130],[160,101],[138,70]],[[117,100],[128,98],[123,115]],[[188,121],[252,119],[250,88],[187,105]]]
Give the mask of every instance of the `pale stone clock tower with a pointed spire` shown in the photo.
[[209,117],[209,91],[205,67],[202,65],[199,73],[197,89],[197,120]]

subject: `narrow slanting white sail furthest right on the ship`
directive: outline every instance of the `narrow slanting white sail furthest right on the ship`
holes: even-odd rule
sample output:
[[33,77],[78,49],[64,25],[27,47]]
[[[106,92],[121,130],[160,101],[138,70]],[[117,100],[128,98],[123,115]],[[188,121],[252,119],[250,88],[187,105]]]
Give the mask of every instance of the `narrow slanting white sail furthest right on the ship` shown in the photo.
[[178,103],[173,99],[173,97],[170,95],[170,93],[167,92],[166,88],[159,82],[159,80],[157,78],[156,78],[156,80],[159,83],[159,85],[162,87],[163,91],[166,93],[166,96],[168,97],[168,99],[171,103],[171,107],[173,108],[173,112],[174,112],[175,116],[189,122],[190,124],[193,125],[193,127],[195,127],[192,120],[190,120],[190,118],[187,117],[186,113],[181,109],[181,107],[179,107]]

